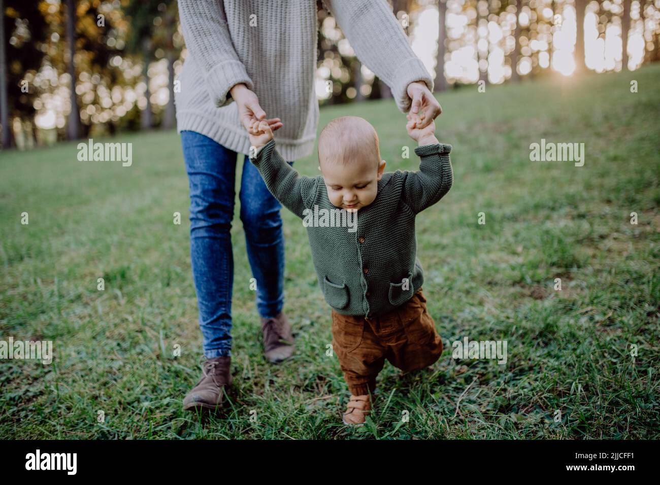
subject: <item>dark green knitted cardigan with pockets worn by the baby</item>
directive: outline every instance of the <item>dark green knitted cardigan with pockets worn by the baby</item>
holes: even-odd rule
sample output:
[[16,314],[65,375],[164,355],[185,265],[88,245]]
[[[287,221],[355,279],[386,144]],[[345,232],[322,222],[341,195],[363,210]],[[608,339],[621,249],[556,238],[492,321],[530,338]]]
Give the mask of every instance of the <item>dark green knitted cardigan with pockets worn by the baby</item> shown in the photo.
[[[319,285],[338,313],[386,313],[407,302],[424,282],[416,257],[415,216],[451,188],[451,145],[418,146],[414,152],[421,158],[420,170],[385,172],[374,202],[358,210],[356,226],[307,227]],[[253,151],[250,161],[275,198],[303,220],[309,221],[315,210],[346,212],[329,201],[322,176],[300,176],[286,163],[275,139]]]

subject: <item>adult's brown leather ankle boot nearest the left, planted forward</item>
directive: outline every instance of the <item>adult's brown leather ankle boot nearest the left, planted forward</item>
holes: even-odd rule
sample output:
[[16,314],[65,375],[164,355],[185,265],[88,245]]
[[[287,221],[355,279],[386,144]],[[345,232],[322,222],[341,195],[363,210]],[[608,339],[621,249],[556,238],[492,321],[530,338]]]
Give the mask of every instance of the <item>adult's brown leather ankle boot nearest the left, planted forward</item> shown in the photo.
[[183,399],[183,409],[220,408],[225,388],[232,385],[231,362],[230,356],[207,359],[202,366],[202,377]]

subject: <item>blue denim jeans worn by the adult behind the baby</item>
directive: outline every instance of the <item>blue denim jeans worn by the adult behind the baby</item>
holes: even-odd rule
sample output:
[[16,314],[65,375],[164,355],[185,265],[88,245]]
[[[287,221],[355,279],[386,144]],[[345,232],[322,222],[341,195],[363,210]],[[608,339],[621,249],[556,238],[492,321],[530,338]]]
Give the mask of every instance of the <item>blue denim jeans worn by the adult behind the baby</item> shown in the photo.
[[[236,191],[236,152],[195,131],[182,131],[190,187],[190,256],[206,358],[230,356],[234,255],[230,230]],[[293,164],[293,162],[288,162]],[[275,317],[284,304],[281,205],[245,156],[239,193],[257,311]],[[250,282],[241,282],[249,286]]]

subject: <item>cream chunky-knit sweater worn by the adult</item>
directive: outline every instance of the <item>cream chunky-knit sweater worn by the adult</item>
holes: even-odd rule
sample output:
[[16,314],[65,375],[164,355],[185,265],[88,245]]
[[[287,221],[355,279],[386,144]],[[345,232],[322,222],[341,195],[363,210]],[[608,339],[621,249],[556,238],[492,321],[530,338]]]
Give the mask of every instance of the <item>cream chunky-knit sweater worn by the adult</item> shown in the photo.
[[[399,110],[410,110],[411,82],[433,90],[386,0],[323,3],[358,59],[391,88]],[[188,54],[175,96],[178,131],[248,154],[248,134],[228,92],[244,82],[267,117],[282,119],[275,132],[282,157],[312,154],[319,120],[315,0],[179,0],[179,13]]]

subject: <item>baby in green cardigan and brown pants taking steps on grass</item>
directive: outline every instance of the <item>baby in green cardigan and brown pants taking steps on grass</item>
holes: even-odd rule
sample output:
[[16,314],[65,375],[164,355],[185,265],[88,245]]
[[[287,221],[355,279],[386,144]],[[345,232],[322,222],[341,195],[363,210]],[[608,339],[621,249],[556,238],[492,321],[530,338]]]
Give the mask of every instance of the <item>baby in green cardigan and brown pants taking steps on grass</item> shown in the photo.
[[248,130],[250,161],[282,205],[300,218],[315,206],[319,212],[352,213],[343,220],[356,216],[348,229],[305,224],[319,284],[332,307],[333,350],[351,393],[343,415],[348,425],[365,422],[385,359],[408,372],[430,366],[443,350],[422,294],[415,216],[451,188],[451,145],[438,142],[433,121],[418,128],[421,117],[409,114],[406,126],[418,143],[417,172],[384,172],[376,130],[356,116],[333,119],[323,128],[318,151],[323,175],[317,177],[300,176],[275,149],[279,119],[254,121]]

